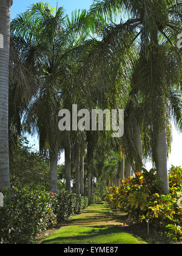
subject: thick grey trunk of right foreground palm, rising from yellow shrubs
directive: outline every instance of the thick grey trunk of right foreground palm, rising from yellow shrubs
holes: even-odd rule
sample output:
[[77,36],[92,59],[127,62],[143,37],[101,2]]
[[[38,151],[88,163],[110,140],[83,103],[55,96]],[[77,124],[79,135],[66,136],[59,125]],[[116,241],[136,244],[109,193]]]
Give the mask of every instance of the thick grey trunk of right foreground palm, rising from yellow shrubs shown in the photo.
[[162,180],[162,193],[169,194],[169,176],[167,172],[167,140],[166,140],[166,125],[158,136],[157,142],[157,175]]

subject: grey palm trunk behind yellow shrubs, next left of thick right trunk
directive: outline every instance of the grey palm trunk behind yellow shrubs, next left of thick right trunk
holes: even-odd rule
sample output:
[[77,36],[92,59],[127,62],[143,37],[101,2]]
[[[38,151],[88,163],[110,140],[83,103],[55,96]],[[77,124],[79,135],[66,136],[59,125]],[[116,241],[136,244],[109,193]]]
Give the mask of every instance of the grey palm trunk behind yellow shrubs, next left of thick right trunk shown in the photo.
[[141,172],[142,167],[142,140],[141,140],[141,126],[136,125],[135,128],[135,147],[138,154],[138,159],[135,163],[135,171]]

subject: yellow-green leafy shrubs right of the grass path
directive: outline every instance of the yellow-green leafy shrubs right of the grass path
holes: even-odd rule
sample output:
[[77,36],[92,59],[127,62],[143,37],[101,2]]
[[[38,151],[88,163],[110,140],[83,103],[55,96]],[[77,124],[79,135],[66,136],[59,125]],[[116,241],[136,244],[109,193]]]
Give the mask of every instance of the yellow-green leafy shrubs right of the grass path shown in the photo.
[[182,169],[172,169],[169,174],[170,193],[160,194],[161,182],[155,169],[136,173],[121,182],[121,186],[110,187],[112,194],[106,196],[107,202],[133,219],[149,221],[155,227],[167,231],[172,238],[182,234]]

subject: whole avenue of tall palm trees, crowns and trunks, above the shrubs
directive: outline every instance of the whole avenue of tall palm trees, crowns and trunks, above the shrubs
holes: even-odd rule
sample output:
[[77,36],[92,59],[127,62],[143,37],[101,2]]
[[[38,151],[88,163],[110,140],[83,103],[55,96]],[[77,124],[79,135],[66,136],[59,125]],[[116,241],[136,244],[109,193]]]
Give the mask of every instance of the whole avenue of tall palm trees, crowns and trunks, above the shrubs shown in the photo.
[[[0,12],[8,14],[0,20],[0,34],[11,39],[9,82],[9,56],[4,54],[9,41],[0,49],[0,187],[10,187],[8,131],[11,142],[29,131],[38,133],[40,152],[50,160],[53,192],[58,191],[58,157],[65,151],[69,193],[72,163],[76,193],[84,194],[86,166],[92,196],[92,180],[119,185],[132,169],[141,171],[146,158],[155,164],[163,192],[169,193],[171,119],[182,129],[177,48],[182,3],[94,1],[89,11],[69,18],[62,7],[39,2],[12,21],[11,33],[10,4],[3,0],[0,5]],[[72,110],[72,104],[88,110],[123,108],[124,136],[60,132],[58,112]]]

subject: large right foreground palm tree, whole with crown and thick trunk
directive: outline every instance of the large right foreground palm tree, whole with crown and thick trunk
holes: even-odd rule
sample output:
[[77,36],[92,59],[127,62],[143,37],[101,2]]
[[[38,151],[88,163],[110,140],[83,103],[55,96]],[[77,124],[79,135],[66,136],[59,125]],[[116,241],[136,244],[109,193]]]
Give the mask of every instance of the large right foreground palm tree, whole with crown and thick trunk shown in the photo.
[[[117,54],[120,52],[124,59],[133,42],[138,44],[140,57],[138,60],[136,59],[136,65],[132,67],[136,78],[133,88],[135,93],[139,93],[142,97],[145,108],[148,107],[152,113],[150,115],[150,124],[148,123],[152,127],[152,154],[157,166],[158,176],[163,180],[163,192],[166,194],[169,192],[169,185],[166,168],[166,115],[164,113],[166,113],[167,99],[169,101],[171,99],[169,97],[169,88],[179,83],[181,62],[179,58],[180,52],[176,45],[177,35],[180,32],[181,5],[180,1],[173,0],[105,0],[95,1],[89,12],[91,20],[96,17],[107,22],[112,21],[107,29],[103,29],[102,42],[93,46],[92,52],[98,51],[100,58],[101,55],[105,54],[106,56],[106,52],[112,49],[112,55],[107,55],[107,62],[115,52]],[[129,15],[129,20],[124,22],[126,20],[126,12]],[[115,16],[118,19],[120,18],[120,24],[113,23]],[[127,32],[130,33],[128,34]],[[166,46],[165,49],[161,44]],[[123,52],[122,46],[125,49]],[[173,52],[174,56],[172,56],[171,52]],[[178,74],[176,72],[172,73],[174,69],[171,63],[174,63]],[[172,76],[169,77],[167,73]],[[167,81],[166,77],[170,79]],[[168,86],[166,86],[166,82]],[[168,104],[169,101],[167,102]],[[149,112],[146,111],[146,113],[148,114]],[[180,121],[180,119],[177,121]],[[140,141],[139,136],[137,141]]]

